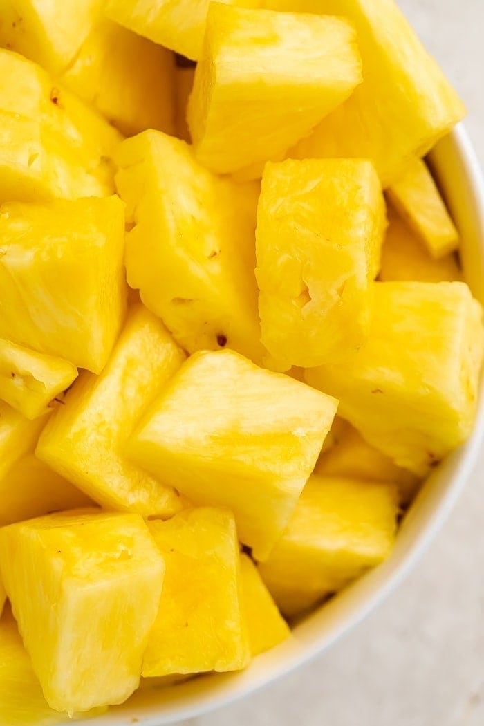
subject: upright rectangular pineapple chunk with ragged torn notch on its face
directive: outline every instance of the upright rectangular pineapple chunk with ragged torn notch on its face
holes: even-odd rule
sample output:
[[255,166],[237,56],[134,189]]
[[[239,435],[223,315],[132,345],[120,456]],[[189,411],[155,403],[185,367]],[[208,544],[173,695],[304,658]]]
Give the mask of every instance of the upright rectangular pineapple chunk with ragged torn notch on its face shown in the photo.
[[371,162],[266,164],[255,275],[271,367],[333,363],[364,343],[384,231],[385,201]]

